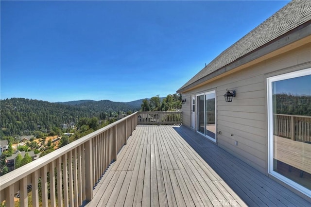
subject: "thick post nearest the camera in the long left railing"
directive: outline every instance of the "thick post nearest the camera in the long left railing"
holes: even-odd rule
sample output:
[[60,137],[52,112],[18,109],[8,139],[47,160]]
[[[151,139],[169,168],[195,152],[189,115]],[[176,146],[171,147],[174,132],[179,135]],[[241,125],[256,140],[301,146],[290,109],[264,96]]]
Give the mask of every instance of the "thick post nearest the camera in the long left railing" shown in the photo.
[[85,143],[86,153],[86,201],[91,201],[93,198],[93,157],[92,157],[92,139]]

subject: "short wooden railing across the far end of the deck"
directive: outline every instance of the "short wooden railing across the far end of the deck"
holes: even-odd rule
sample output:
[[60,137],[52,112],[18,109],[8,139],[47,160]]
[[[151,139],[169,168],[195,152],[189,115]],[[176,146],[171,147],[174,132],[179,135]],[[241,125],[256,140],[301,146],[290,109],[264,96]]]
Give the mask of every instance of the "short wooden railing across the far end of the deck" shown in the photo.
[[138,112],[138,124],[181,124],[181,111],[140,111]]

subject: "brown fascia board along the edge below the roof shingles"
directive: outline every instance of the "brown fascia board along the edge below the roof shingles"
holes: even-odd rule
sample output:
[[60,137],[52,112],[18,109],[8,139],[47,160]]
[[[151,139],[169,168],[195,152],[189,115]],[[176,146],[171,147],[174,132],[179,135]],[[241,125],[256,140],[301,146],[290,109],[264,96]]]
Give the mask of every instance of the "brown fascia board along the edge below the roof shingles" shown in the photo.
[[[207,76],[197,80],[196,82],[190,84],[189,86],[186,86],[184,88],[180,88],[177,90],[177,93],[184,93],[187,92],[193,88],[196,88],[198,86],[201,86],[203,83],[207,82],[210,79],[214,79],[217,76],[220,76],[230,70],[236,69],[238,67],[241,67],[245,65],[245,67],[248,67],[249,65],[253,65],[258,63],[259,61],[256,61],[252,64],[252,61],[255,61],[256,59],[259,59],[260,57],[263,57],[271,52],[277,51],[287,45],[290,45],[296,41],[299,41],[301,39],[304,39],[311,35],[311,21],[306,22],[303,25],[300,25],[299,27],[295,28],[294,30],[288,32],[287,34],[284,34],[278,38],[276,38],[273,41],[270,41],[266,45],[260,47],[259,49],[249,52],[248,54],[242,56],[241,58],[231,62],[230,64],[224,66],[221,69],[217,69],[214,72],[208,74]],[[310,37],[311,40],[311,37]],[[292,48],[294,49],[294,48]],[[286,52],[286,51],[285,51]],[[277,55],[277,54],[275,54]],[[262,60],[260,60],[262,61]]]

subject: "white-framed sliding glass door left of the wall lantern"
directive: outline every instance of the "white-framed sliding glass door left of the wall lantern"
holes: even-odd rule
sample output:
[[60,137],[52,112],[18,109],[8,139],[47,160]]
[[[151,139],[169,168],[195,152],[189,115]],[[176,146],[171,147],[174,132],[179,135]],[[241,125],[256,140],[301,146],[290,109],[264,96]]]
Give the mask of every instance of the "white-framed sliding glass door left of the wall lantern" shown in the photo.
[[197,131],[216,141],[215,91],[197,96]]

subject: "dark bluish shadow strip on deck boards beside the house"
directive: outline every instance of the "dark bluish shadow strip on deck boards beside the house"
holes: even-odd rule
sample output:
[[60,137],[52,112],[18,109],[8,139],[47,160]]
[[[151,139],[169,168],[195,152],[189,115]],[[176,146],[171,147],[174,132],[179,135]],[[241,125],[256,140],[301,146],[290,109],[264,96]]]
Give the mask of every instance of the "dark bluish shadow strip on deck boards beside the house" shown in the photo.
[[173,128],[248,206],[311,206],[311,199],[306,201],[193,130]]

